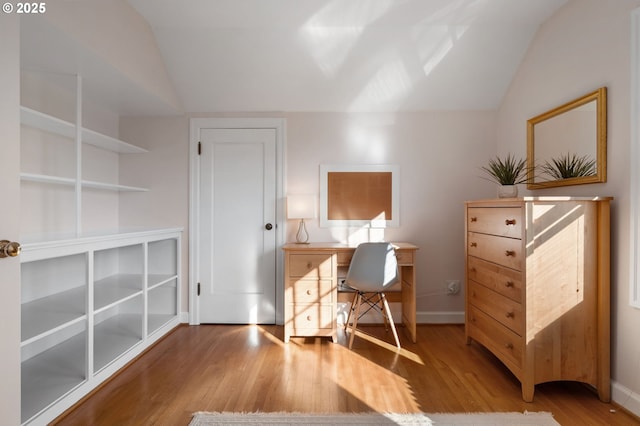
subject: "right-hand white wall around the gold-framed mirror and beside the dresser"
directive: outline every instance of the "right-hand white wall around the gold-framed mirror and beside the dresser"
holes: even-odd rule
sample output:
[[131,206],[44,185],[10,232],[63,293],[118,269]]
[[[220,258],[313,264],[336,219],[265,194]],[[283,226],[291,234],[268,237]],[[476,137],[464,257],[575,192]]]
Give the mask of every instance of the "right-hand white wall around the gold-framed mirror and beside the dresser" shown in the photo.
[[[608,179],[535,195],[610,195],[614,400],[640,414],[640,310],[629,306],[630,12],[638,0],[572,0],[540,29],[498,114],[498,151],[526,153],[526,120],[608,88]],[[633,391],[633,394],[630,393]]]

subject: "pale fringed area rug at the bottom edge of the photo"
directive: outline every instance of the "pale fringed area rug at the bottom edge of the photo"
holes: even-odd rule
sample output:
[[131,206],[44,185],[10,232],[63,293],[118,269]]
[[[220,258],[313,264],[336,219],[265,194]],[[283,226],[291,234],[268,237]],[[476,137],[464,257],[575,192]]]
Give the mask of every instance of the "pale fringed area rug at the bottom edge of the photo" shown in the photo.
[[207,413],[193,415],[189,426],[224,425],[477,425],[559,426],[551,413],[467,413],[467,414],[308,414],[308,413]]

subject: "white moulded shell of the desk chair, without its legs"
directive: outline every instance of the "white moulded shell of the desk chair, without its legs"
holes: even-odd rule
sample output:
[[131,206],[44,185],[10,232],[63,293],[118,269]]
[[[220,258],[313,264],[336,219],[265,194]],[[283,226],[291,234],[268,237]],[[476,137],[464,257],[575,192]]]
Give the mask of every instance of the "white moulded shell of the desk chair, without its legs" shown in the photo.
[[351,259],[347,285],[364,292],[383,292],[399,280],[398,260],[389,243],[362,243]]

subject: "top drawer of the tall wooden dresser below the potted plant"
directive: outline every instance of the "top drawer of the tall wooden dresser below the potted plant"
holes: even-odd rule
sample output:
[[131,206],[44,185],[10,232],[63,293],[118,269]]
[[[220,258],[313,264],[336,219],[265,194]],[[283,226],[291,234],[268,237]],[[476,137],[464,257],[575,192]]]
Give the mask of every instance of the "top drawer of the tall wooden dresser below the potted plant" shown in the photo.
[[520,207],[469,207],[467,230],[483,234],[522,238]]

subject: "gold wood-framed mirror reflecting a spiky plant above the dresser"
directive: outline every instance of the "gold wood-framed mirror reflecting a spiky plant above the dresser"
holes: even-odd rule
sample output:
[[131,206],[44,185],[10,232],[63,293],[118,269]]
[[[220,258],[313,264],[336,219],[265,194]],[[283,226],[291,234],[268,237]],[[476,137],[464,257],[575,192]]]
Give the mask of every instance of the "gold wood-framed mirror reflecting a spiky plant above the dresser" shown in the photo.
[[607,181],[607,88],[527,121],[528,189]]

